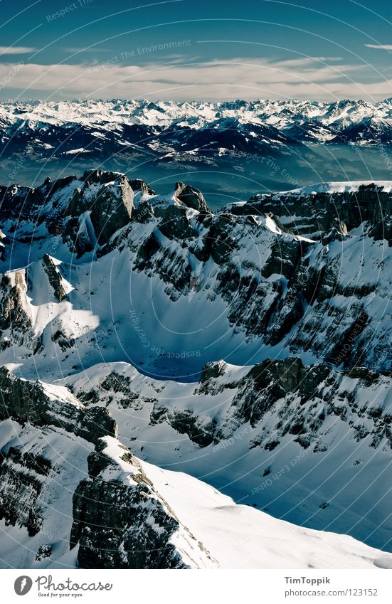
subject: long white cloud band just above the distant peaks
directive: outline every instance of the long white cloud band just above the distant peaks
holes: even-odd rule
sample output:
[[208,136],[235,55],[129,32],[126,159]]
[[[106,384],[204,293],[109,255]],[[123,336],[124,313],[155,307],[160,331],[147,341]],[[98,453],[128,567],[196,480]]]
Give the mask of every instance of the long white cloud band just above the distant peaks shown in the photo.
[[[157,53],[152,57],[156,59]],[[15,65],[15,64],[14,64]],[[208,63],[151,62],[147,65],[0,65],[0,80],[13,77],[7,88],[24,97],[39,91],[41,97],[112,98],[142,97],[171,100],[229,100],[233,98],[341,97],[381,100],[391,94],[391,80],[375,73],[373,82],[363,81],[365,65],[334,63],[322,58],[290,60],[234,59]],[[363,75],[364,73],[364,75]],[[42,92],[42,94],[41,94]],[[5,91],[3,91],[3,94]],[[52,95],[52,96],[51,96]]]

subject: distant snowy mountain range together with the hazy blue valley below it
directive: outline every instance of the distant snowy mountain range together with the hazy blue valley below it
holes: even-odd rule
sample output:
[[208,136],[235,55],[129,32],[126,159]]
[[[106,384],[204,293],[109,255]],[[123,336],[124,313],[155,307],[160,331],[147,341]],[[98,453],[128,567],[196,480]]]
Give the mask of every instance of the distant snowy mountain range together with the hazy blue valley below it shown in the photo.
[[91,167],[168,194],[191,181],[214,210],[255,191],[390,178],[391,100],[2,102],[0,182],[37,187]]

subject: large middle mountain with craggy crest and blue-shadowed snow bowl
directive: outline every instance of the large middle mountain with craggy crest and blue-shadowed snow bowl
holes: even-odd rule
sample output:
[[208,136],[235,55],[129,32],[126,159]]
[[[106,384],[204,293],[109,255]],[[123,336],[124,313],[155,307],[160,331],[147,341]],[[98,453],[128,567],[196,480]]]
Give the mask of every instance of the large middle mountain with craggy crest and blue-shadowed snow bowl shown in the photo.
[[102,171],[0,194],[0,361],[22,354],[26,376],[122,360],[189,380],[291,354],[391,369],[391,183],[216,213],[184,184],[159,196]]

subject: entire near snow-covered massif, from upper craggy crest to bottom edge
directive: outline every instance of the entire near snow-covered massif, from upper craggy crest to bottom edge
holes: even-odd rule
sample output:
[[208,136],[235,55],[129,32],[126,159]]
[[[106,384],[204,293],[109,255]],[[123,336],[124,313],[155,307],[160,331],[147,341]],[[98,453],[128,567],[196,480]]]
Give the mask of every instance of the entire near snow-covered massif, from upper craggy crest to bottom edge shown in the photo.
[[[322,566],[327,542],[337,566],[360,564],[364,546],[311,529],[391,550],[391,191],[323,183],[213,212],[194,186],[160,195],[110,171],[1,187],[0,512],[14,566],[35,563],[21,554],[31,539],[53,565],[109,568],[261,568],[278,551],[282,566]],[[43,541],[54,512],[28,499],[23,516],[27,496],[69,510],[61,544]],[[91,501],[115,532],[94,528]],[[231,518],[238,533],[220,537]],[[270,558],[269,531],[282,534]],[[241,539],[249,558],[235,557]],[[135,561],[141,543],[166,554]],[[388,566],[366,551],[365,566]]]

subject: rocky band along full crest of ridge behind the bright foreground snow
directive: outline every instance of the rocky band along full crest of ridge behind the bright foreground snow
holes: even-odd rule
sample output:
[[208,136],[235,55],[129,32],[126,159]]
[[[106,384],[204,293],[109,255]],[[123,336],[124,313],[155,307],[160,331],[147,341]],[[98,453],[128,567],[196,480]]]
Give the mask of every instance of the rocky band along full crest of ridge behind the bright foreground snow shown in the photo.
[[[95,381],[94,386],[88,377],[81,378],[81,382],[70,378],[68,383],[76,382],[75,396],[85,404],[94,406],[100,401],[112,409],[129,408],[132,413],[143,409],[149,413],[150,425],[168,424],[179,434],[187,435],[198,447],[232,438],[235,430],[249,423],[263,435],[253,438],[252,446],[271,450],[272,443],[275,448],[289,434],[295,435],[292,438],[301,447],[317,448],[331,432],[329,418],[337,417],[353,427],[353,447],[359,434],[358,425],[366,423],[361,438],[367,438],[370,447],[378,447],[385,439],[392,449],[391,407],[388,405],[391,376],[381,376],[364,367],[334,371],[326,364],[306,366],[297,357],[280,361],[266,359],[242,377],[233,373],[233,377],[228,378],[227,371],[222,361],[208,364],[184,403],[166,402],[164,382],[151,380],[154,396],[146,396],[142,393],[145,381],[115,369],[110,371],[110,368],[105,368],[104,376]],[[181,392],[180,386],[178,391]],[[207,399],[216,401],[211,403],[211,410],[198,411],[198,408],[206,408]],[[218,403],[220,399],[224,401],[223,406]],[[197,402],[192,403],[191,409],[187,408],[186,402],[192,400]]]

